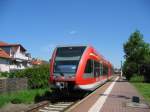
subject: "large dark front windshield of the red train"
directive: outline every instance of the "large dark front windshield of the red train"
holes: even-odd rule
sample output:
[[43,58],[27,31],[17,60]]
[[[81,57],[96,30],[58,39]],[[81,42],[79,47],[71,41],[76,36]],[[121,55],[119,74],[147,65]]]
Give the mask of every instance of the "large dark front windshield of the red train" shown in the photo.
[[76,73],[80,58],[85,47],[57,48],[54,73]]

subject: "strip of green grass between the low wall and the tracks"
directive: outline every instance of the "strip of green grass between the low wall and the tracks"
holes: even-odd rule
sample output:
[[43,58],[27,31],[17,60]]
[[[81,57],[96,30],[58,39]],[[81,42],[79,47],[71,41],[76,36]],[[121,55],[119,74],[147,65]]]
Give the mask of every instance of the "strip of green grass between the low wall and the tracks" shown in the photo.
[[49,91],[49,89],[30,89],[0,94],[0,107],[10,102],[25,104],[33,103],[37,95],[42,95],[46,91]]

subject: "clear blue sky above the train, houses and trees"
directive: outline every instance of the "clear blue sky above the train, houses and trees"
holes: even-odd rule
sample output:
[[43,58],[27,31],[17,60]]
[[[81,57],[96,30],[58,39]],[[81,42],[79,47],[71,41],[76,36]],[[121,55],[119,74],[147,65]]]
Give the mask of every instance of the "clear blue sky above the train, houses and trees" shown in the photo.
[[0,40],[45,60],[56,45],[90,44],[120,67],[136,29],[150,43],[149,0],[0,0]]

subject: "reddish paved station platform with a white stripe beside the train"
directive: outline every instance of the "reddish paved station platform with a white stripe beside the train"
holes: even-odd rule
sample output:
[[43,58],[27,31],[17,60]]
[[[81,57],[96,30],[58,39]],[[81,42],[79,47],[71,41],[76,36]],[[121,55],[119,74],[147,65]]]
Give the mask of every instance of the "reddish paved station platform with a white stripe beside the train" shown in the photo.
[[[133,103],[133,96],[140,97],[140,103]],[[150,112],[150,108],[129,82],[116,76],[67,112]]]

